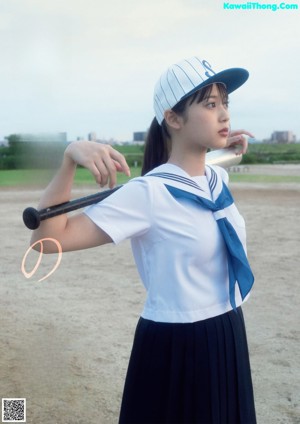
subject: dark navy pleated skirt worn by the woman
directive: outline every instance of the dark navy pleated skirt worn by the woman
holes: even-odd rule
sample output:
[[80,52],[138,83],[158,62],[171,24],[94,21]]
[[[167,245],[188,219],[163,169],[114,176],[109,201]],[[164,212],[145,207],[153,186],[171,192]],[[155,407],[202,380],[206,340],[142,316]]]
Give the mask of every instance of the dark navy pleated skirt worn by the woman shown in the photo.
[[119,424],[254,424],[241,308],[204,321],[140,318]]

